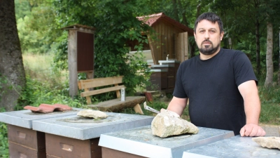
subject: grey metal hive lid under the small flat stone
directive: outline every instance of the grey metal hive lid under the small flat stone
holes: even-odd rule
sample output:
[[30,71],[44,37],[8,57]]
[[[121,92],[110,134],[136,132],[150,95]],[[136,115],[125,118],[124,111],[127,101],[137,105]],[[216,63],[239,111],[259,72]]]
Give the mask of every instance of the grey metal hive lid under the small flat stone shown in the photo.
[[66,116],[33,121],[33,129],[57,136],[87,140],[99,138],[102,133],[150,125],[154,117],[139,114],[106,112],[106,119],[87,119]]

